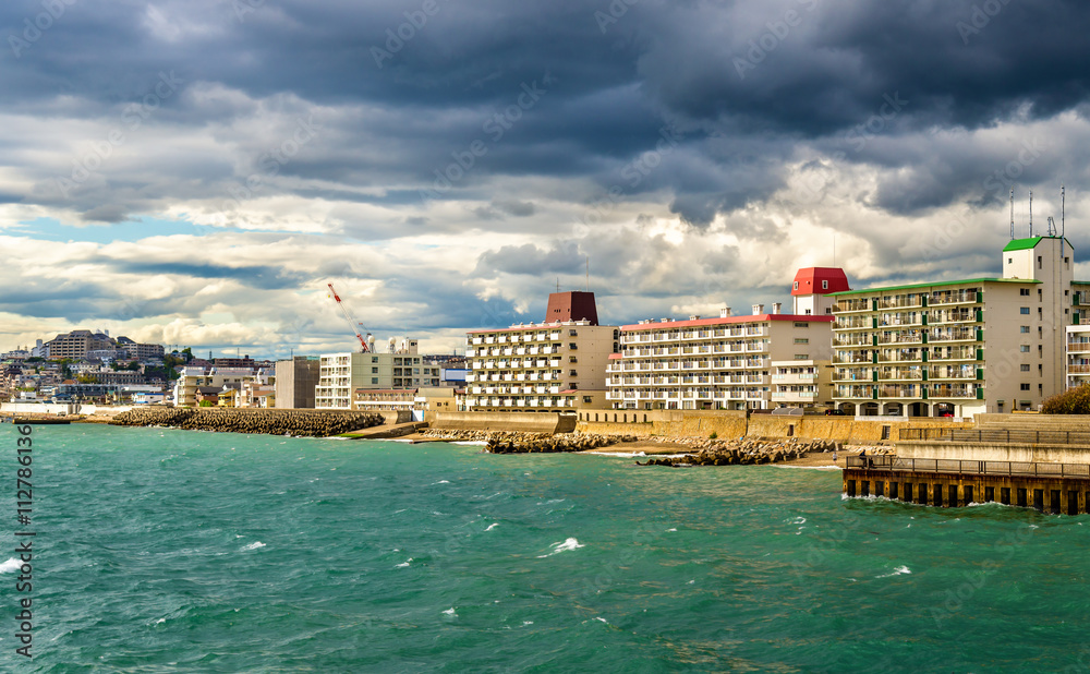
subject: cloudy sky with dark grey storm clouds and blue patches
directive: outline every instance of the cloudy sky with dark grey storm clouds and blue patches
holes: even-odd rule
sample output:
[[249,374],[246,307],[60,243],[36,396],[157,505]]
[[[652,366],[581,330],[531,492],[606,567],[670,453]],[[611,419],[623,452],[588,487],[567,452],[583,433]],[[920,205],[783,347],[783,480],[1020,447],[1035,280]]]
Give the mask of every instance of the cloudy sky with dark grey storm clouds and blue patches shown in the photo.
[[[1047,216],[1090,278],[1075,0],[9,0],[0,351],[464,348],[997,275]],[[1070,229],[1067,229],[1070,225]]]

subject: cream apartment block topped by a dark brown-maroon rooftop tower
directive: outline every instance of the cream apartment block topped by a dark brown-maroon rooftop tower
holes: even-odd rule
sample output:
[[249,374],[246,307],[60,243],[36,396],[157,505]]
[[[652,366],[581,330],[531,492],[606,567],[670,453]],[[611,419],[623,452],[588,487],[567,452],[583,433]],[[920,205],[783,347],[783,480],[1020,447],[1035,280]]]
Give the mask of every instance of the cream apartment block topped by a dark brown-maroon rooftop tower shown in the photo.
[[546,321],[468,333],[467,411],[573,411],[603,407],[618,328],[598,325],[593,292],[549,294]]

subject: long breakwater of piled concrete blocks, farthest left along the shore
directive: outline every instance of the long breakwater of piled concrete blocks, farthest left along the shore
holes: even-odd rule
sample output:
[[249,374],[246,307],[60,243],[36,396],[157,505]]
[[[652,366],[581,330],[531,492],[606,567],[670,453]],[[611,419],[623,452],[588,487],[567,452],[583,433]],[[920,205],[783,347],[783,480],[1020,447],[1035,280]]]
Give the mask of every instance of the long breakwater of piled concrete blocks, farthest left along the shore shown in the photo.
[[208,408],[138,408],[110,422],[120,426],[170,426],[186,431],[266,433],[295,437],[328,437],[383,423],[373,412]]

